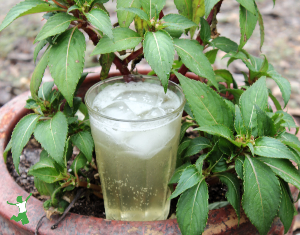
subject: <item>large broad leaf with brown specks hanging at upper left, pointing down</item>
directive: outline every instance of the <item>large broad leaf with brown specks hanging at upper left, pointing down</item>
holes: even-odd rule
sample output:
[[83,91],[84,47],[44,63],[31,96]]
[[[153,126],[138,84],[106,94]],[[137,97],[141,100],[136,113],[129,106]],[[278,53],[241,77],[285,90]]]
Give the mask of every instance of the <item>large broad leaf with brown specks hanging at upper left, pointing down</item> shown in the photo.
[[73,94],[84,66],[85,37],[73,28],[62,33],[55,42],[48,65],[58,90],[72,107]]

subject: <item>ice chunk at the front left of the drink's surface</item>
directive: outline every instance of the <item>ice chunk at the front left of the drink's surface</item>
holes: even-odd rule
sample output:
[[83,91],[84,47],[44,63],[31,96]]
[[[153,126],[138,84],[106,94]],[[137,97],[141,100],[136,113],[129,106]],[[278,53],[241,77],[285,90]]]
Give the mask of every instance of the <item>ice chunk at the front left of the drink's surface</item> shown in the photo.
[[138,116],[123,102],[118,101],[100,110],[100,113],[117,119],[137,120]]

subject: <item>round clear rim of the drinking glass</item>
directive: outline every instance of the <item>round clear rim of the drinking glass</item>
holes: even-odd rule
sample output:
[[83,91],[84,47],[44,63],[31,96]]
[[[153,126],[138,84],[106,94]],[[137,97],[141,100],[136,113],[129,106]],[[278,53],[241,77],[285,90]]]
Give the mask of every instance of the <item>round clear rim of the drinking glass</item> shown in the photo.
[[[153,80],[156,80],[156,81],[160,81],[158,77],[155,77],[155,76],[151,76],[151,75],[142,75],[142,74],[139,74],[139,75],[134,75],[134,74],[131,74],[131,75],[125,75],[125,76],[131,76],[131,77],[137,77],[137,78],[147,78],[147,79],[153,79]],[[168,113],[168,114],[165,114],[163,116],[159,116],[159,117],[156,117],[156,118],[151,118],[151,119],[142,119],[142,120],[128,120],[128,119],[118,119],[118,118],[113,118],[113,117],[110,117],[110,116],[106,116],[106,115],[103,115],[99,112],[97,112],[96,110],[94,110],[87,102],[87,96],[88,94],[91,92],[91,90],[93,90],[95,87],[99,86],[99,85],[102,85],[102,84],[105,84],[105,83],[108,83],[110,81],[113,81],[113,80],[118,80],[120,78],[124,78],[123,75],[121,76],[115,76],[115,77],[112,77],[112,78],[107,78],[107,79],[104,79],[102,81],[99,81],[97,82],[96,84],[94,84],[93,86],[91,86],[87,92],[85,93],[85,96],[84,96],[84,103],[86,105],[86,107],[88,108],[88,111],[94,113],[95,115],[97,116],[101,116],[103,118],[106,118],[106,119],[110,119],[110,120],[113,120],[113,121],[118,121],[118,122],[133,122],[133,123],[140,123],[140,122],[152,122],[152,121],[156,121],[156,120],[160,120],[160,119],[164,119],[166,117],[169,117],[169,116],[172,116],[174,115],[174,113],[177,113],[179,112],[180,110],[183,110],[183,107],[185,105],[185,102],[186,102],[186,98],[185,98],[185,95],[183,93],[183,90],[182,90],[182,87],[180,87],[178,84],[176,84],[175,82],[173,81],[170,81],[169,80],[169,83],[168,83],[168,87],[170,85],[173,85],[175,86],[179,91],[180,93],[182,94],[182,101],[181,101],[181,104],[176,108],[174,109],[171,113]],[[160,81],[161,82],[161,81]],[[170,84],[171,83],[171,84]],[[162,85],[161,85],[162,86]],[[176,94],[177,95],[177,94]]]

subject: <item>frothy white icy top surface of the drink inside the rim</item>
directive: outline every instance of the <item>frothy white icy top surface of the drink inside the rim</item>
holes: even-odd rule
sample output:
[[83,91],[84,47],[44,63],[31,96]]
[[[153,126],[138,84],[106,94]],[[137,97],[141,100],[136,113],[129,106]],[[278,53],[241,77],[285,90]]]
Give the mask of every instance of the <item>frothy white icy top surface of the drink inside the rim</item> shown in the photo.
[[171,113],[179,105],[174,92],[164,93],[162,86],[140,81],[105,87],[95,97],[92,108],[111,118],[145,120]]

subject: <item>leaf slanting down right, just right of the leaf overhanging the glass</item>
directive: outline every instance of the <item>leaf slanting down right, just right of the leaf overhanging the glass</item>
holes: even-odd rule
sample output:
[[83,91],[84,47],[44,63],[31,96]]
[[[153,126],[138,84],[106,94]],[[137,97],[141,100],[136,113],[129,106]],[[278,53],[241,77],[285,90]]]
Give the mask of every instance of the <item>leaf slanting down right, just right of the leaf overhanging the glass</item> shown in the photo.
[[202,46],[195,40],[174,38],[174,46],[184,65],[196,75],[207,78],[214,87],[218,84],[207,57],[202,53]]

